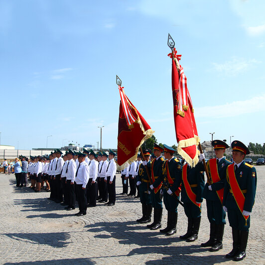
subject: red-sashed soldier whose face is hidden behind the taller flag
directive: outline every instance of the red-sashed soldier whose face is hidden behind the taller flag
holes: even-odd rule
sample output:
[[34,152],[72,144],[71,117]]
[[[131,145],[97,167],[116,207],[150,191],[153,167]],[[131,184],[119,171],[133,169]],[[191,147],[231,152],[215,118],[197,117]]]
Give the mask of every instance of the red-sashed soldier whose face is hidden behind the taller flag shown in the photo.
[[204,173],[200,171],[200,165],[197,164],[195,167],[191,167],[186,163],[182,167],[181,201],[188,217],[188,229],[187,233],[179,238],[186,239],[187,242],[193,242],[198,239],[203,190]]

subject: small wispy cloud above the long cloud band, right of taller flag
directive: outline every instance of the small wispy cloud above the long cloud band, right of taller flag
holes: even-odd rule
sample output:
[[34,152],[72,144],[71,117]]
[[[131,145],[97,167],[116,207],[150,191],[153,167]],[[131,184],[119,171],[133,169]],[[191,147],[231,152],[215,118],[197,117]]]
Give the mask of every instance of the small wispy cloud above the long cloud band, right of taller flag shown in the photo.
[[237,75],[241,72],[247,71],[249,67],[257,63],[260,63],[260,61],[257,61],[256,59],[246,60],[243,58],[233,57],[231,61],[212,64],[218,72],[222,72],[226,75]]

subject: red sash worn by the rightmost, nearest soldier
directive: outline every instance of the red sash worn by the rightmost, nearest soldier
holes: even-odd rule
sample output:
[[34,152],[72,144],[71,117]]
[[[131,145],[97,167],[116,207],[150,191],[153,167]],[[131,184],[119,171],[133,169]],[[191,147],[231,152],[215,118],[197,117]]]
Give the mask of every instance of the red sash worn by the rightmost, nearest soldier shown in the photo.
[[[227,167],[228,178],[229,178],[230,187],[233,192],[236,203],[238,205],[238,208],[241,211],[241,213],[243,213],[244,204],[245,204],[245,196],[242,193],[241,188],[239,187],[236,174],[235,174],[235,170],[234,170],[234,165],[235,164],[231,164]],[[246,215],[243,215],[243,216],[246,219],[246,223],[247,223],[247,219],[249,218],[249,216],[246,216]]]

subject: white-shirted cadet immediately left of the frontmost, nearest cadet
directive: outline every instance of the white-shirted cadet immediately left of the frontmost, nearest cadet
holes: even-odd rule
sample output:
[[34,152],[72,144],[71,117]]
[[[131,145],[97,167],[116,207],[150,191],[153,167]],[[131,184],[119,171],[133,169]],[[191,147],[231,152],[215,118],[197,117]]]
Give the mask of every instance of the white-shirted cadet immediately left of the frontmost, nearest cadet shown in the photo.
[[68,205],[64,209],[71,211],[75,209],[76,189],[75,189],[75,176],[76,176],[76,162],[74,160],[75,153],[69,149],[67,154],[68,163],[65,169],[66,185],[65,185],[65,203]]

